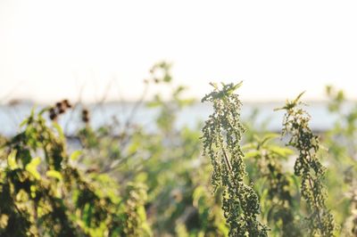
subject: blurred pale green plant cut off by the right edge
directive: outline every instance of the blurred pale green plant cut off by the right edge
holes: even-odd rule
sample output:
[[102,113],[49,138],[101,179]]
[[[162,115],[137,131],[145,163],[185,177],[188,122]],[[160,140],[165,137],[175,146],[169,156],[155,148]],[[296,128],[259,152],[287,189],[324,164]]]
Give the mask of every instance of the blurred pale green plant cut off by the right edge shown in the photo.
[[[348,103],[342,90],[326,87],[328,110],[336,116],[334,127],[324,135],[331,163],[328,183],[336,216],[345,236],[357,235],[357,105]],[[334,200],[339,200],[334,203]]]

